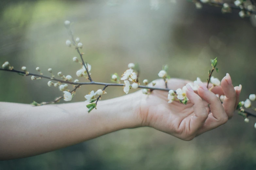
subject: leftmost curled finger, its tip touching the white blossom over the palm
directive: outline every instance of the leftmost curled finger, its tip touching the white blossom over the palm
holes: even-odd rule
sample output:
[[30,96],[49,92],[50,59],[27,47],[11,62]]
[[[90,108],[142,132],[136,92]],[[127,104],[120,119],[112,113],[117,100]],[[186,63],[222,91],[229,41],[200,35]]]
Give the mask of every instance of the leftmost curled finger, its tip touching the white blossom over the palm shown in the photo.
[[194,104],[194,113],[195,115],[192,116],[190,123],[189,123],[189,129],[190,133],[194,134],[197,132],[197,130],[202,127],[205,120],[208,117],[208,112],[204,106],[203,100],[201,97],[199,97],[191,88],[189,84],[186,85],[188,91],[186,92],[186,95],[189,99],[189,101]]

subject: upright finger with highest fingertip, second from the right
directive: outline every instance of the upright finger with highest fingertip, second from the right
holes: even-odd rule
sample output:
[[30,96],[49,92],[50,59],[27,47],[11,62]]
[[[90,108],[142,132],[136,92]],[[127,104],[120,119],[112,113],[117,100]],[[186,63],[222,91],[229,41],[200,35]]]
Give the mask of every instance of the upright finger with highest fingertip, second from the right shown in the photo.
[[233,114],[234,114],[234,107],[236,104],[237,93],[234,89],[234,86],[232,85],[232,80],[228,73],[221,80],[221,87],[222,87],[224,95],[225,95],[222,106],[223,106],[226,114],[228,115],[228,117],[231,118],[231,117],[233,117]]

